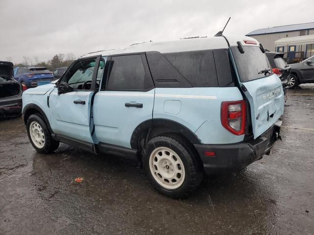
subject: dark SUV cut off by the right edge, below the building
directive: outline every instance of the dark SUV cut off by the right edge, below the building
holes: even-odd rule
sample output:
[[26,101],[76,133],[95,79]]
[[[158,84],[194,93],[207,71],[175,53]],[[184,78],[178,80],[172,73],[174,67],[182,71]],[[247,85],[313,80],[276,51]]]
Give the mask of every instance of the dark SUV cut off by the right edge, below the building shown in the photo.
[[291,76],[288,80],[290,84],[289,88],[294,88],[302,83],[314,83],[314,56],[290,66]]

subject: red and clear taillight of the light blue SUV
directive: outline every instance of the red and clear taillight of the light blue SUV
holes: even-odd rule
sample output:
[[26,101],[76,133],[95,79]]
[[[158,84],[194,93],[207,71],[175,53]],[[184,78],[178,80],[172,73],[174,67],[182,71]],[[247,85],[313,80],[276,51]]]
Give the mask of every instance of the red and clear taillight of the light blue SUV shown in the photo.
[[231,133],[239,136],[245,132],[245,102],[228,101],[221,103],[221,124]]

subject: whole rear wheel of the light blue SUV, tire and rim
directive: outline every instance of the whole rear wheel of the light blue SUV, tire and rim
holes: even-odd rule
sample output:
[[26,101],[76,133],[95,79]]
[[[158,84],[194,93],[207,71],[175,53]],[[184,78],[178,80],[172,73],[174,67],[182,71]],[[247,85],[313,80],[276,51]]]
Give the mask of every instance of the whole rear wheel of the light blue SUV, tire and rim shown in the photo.
[[203,168],[192,147],[179,136],[157,136],[143,150],[143,164],[158,192],[186,197],[200,184]]

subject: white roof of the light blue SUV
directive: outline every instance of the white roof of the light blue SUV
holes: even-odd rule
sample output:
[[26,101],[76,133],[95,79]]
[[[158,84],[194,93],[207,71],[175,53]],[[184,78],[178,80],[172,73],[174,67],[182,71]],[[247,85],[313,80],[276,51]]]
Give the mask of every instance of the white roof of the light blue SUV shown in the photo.
[[[256,41],[254,38],[246,36],[226,36],[230,46],[237,46],[236,42],[240,41],[243,43],[243,40],[252,40]],[[250,45],[255,46],[255,45]],[[257,42],[257,45],[259,43]],[[84,55],[113,55],[113,54],[125,54],[125,53],[136,53],[136,52],[145,52],[145,51],[158,51],[160,53],[170,53],[170,52],[182,52],[182,51],[194,51],[194,50],[209,50],[209,49],[221,49],[228,48],[228,44],[223,37],[208,37],[208,38],[192,38],[192,39],[181,39],[175,41],[166,41],[166,42],[149,42],[149,43],[140,43],[134,44],[129,47],[104,50],[92,52]]]

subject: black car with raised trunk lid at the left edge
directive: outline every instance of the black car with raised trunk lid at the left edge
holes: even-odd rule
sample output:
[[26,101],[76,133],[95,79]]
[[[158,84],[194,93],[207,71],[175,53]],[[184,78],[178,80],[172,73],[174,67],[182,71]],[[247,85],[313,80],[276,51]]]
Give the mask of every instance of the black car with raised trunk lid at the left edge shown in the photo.
[[22,115],[22,92],[13,77],[13,64],[0,61],[0,118]]

